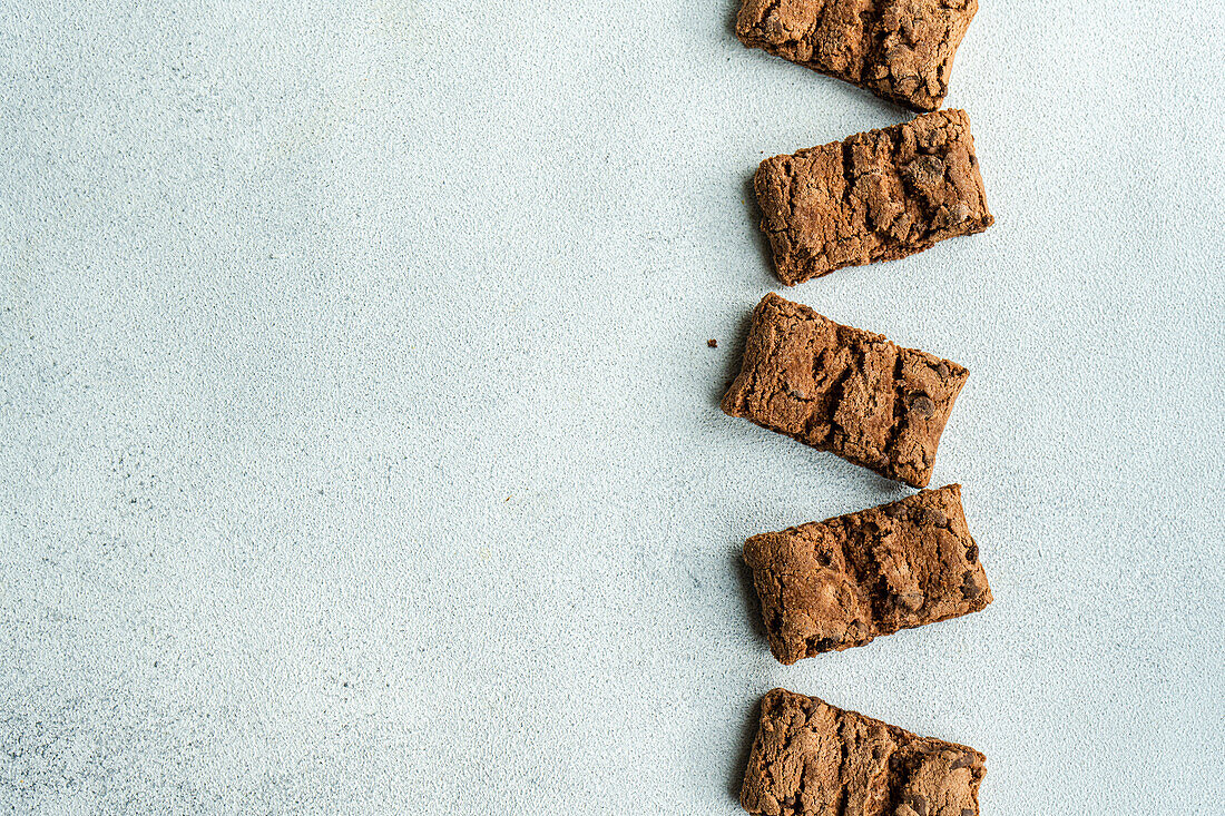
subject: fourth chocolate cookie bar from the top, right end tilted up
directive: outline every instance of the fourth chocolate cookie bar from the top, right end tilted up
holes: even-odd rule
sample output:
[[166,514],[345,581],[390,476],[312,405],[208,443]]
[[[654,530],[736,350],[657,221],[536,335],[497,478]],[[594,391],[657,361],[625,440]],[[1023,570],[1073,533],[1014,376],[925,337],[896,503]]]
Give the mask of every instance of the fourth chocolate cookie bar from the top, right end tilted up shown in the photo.
[[957,484],[753,535],[745,562],[769,648],[788,665],[991,603]]

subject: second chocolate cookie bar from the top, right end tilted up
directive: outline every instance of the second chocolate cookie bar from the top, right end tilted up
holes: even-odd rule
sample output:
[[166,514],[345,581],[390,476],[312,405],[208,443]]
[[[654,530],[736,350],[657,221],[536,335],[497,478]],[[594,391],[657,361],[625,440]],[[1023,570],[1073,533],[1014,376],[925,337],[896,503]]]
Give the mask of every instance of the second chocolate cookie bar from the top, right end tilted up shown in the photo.
[[914,255],[995,223],[964,110],[768,158],[753,190],[786,285]]

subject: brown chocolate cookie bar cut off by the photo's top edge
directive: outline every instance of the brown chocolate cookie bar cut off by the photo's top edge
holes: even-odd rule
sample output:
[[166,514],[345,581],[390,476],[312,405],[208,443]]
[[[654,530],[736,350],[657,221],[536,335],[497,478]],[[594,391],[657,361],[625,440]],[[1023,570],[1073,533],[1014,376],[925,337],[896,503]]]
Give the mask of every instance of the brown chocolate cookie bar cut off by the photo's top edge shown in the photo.
[[978,10],[978,0],[744,0],[736,36],[914,110],[936,110]]

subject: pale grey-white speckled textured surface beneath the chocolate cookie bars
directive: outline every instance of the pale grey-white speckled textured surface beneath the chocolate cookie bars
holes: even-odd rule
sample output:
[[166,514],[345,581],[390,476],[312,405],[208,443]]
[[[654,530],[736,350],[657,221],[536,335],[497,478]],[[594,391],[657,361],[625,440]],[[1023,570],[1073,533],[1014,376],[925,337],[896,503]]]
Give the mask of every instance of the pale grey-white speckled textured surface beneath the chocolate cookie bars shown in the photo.
[[719,413],[748,179],[904,114],[735,5],[0,1],[0,805],[731,815],[782,685],[1221,812],[1219,4],[982,0],[996,227],[784,292],[970,368],[996,595],[790,668],[740,543],[907,491]]

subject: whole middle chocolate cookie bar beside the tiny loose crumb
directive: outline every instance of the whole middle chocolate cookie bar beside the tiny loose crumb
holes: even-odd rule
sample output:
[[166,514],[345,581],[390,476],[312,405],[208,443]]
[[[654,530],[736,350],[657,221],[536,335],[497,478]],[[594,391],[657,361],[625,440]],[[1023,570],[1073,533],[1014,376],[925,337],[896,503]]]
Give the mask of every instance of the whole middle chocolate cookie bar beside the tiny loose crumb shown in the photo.
[[723,410],[926,488],[969,371],[768,294]]

